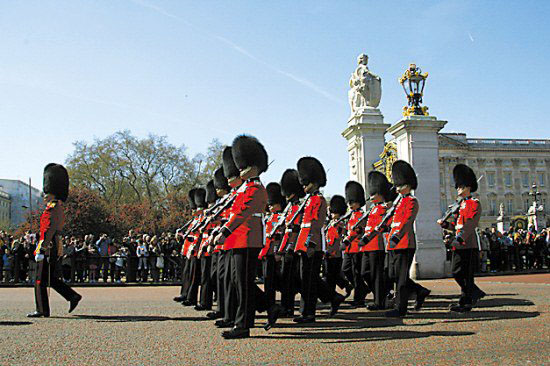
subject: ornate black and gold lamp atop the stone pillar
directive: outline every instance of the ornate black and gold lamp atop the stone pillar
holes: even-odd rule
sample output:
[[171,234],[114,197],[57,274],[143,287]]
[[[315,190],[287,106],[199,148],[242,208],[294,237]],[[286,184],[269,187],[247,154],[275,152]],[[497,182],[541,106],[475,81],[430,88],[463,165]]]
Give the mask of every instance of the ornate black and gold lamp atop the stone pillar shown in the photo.
[[422,107],[422,95],[424,93],[424,84],[428,78],[428,73],[422,73],[420,67],[410,64],[403,76],[399,78],[399,83],[403,86],[405,95],[407,95],[407,105],[403,107],[403,116],[427,116],[428,107]]

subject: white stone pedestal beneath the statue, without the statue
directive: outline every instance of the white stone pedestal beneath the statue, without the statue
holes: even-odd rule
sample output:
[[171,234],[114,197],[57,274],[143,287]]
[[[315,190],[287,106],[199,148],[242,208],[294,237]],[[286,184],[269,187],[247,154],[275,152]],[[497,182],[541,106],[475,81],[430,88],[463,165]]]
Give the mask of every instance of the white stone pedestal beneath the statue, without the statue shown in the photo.
[[390,125],[384,123],[384,116],[377,108],[364,108],[351,116],[342,136],[348,140],[350,179],[355,180],[368,191],[367,174],[372,164],[380,159],[384,150],[384,134]]

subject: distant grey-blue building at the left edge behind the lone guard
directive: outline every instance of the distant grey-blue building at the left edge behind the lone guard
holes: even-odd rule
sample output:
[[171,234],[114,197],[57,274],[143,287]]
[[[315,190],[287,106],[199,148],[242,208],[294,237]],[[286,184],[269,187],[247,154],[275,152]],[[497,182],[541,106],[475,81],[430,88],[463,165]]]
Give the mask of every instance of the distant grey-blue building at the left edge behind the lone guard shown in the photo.
[[27,220],[29,207],[33,211],[43,207],[42,192],[37,188],[31,187],[29,202],[28,183],[14,179],[0,179],[0,190],[7,193],[10,197],[11,228],[16,228]]

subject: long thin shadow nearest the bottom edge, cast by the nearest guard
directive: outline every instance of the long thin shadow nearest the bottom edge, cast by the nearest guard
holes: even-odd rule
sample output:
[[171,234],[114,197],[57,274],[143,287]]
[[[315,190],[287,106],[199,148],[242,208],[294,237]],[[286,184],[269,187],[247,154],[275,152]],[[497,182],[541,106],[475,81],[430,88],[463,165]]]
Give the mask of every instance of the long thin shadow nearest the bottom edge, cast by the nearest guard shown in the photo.
[[271,339],[325,339],[324,343],[351,343],[351,342],[373,342],[394,339],[412,339],[428,337],[460,337],[474,335],[474,332],[454,332],[454,331],[429,331],[417,332],[410,330],[395,331],[354,331],[354,332],[273,332],[269,336],[255,336],[254,338]]

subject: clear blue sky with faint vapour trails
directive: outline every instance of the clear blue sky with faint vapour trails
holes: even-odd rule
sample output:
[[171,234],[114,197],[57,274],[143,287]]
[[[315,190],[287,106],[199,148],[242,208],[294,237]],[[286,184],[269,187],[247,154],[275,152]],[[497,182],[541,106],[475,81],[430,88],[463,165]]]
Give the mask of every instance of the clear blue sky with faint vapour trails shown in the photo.
[[550,138],[548,1],[0,2],[0,177],[41,187],[76,140],[130,129],[191,154],[257,136],[279,180],[298,158],[348,179],[348,79],[369,55],[386,123],[410,62],[425,104],[470,137]]

